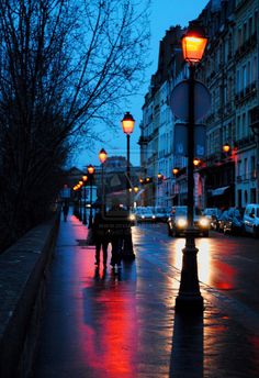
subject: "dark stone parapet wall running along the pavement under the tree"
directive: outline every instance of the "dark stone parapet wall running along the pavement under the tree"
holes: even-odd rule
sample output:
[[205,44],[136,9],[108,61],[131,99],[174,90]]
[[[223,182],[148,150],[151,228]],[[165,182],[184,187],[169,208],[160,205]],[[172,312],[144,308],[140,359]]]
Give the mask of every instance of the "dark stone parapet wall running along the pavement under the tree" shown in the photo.
[[0,377],[29,377],[59,214],[0,255]]

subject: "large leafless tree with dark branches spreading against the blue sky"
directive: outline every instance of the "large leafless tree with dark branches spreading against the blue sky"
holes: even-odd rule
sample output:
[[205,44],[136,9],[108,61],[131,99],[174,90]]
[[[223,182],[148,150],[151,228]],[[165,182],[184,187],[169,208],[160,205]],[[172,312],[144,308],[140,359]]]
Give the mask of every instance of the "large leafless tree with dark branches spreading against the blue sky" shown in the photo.
[[143,80],[148,2],[0,2],[0,225],[8,241],[40,222],[72,137],[112,125]]

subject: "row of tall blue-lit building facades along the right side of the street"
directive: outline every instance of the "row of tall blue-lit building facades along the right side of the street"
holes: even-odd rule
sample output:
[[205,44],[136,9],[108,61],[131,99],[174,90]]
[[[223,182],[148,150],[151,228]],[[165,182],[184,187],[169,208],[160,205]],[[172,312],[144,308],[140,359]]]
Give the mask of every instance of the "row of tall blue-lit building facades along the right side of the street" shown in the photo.
[[[196,79],[209,88],[212,101],[202,120],[206,153],[194,173],[194,199],[201,208],[259,203],[259,136],[252,132],[252,125],[259,123],[258,7],[257,0],[213,0],[198,18],[207,32],[209,44],[196,67]],[[173,148],[174,126],[182,121],[170,109],[171,90],[188,76],[180,55],[183,32],[176,26],[166,33],[151,80],[155,85],[143,107],[140,140],[145,144],[139,144],[147,154],[143,154],[142,166],[153,178],[153,201],[147,204],[187,203],[187,158]],[[166,44],[170,46],[165,48]],[[165,51],[170,51],[167,59]],[[229,151],[224,152],[226,145]],[[173,167],[179,168],[177,175],[171,174]],[[157,173],[165,175],[165,190],[161,184],[154,184]]]

